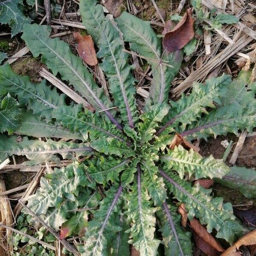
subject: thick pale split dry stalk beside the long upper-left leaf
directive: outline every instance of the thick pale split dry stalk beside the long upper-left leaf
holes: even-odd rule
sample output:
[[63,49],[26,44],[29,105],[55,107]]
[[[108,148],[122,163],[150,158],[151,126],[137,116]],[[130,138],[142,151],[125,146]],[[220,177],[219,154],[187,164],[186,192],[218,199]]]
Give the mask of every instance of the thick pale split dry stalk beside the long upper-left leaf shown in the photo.
[[49,81],[51,84],[56,86],[58,89],[60,89],[63,93],[65,93],[67,96],[70,97],[70,99],[73,99],[74,102],[78,104],[83,104],[84,108],[88,108],[90,111],[95,111],[95,109],[79,94],[77,94],[75,91],[70,89],[66,84],[64,84],[61,80],[56,78],[52,75],[49,71],[42,68],[39,72],[42,77],[44,77],[47,81]]

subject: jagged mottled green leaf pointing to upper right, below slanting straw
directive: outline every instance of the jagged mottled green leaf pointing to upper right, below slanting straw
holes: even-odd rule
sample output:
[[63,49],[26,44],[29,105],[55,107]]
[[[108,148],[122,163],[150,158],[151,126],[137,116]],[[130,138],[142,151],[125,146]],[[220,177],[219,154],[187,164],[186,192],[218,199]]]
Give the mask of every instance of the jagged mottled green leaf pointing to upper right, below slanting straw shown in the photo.
[[215,108],[214,102],[221,104],[221,99],[230,82],[231,77],[223,75],[218,78],[207,79],[205,84],[194,83],[189,96],[183,94],[177,102],[170,101],[171,111],[164,118],[163,123],[165,125],[157,131],[157,135],[164,130],[166,131],[163,134],[172,132],[173,128],[179,132],[184,131],[186,125],[196,121],[202,113],[208,113],[207,107]]

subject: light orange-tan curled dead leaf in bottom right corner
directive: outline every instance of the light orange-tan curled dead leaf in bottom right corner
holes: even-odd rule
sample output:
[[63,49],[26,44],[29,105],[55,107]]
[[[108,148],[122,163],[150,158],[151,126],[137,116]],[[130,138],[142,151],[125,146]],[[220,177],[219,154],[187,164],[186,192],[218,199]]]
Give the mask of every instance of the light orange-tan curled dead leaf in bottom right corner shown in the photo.
[[231,247],[229,247],[221,256],[239,256],[239,248],[244,245],[256,245],[256,230],[248,233],[247,235],[241,237],[236,243],[234,243]]

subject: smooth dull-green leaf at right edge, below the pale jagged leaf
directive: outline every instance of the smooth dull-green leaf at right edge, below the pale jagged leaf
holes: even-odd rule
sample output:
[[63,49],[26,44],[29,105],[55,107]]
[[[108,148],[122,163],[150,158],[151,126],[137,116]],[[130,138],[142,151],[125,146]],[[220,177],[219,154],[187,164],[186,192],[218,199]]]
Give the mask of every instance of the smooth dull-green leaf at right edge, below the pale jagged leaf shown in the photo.
[[232,166],[231,172],[215,182],[236,189],[247,198],[256,198],[256,170]]

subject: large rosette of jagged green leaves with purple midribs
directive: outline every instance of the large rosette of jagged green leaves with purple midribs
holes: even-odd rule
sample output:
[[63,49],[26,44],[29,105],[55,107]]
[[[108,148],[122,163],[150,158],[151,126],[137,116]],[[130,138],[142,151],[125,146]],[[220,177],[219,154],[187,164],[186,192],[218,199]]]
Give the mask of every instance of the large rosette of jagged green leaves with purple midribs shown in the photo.
[[[256,100],[250,74],[241,73],[233,82],[223,75],[195,83],[189,96],[169,101],[181,51],[163,54],[149,22],[126,12],[114,20],[104,15],[96,0],[81,0],[80,14],[99,49],[111,98],[67,43],[49,38],[48,26],[25,25],[22,38],[34,57],[41,56],[54,75],[58,73],[87,99],[94,113],[82,105],[66,104],[65,95],[45,81],[32,84],[9,65],[0,66],[0,95],[17,102],[19,122],[11,131],[23,135],[18,143],[16,136],[1,135],[1,159],[12,154],[25,155],[30,164],[74,159],[42,177],[27,206],[60,230],[61,238],[79,234],[75,244],[81,255],[129,255],[132,244],[141,256],[154,256],[160,243],[165,255],[192,255],[190,233],[180,226],[177,214],[181,202],[190,220],[198,218],[209,233],[232,244],[243,229],[231,204],[189,181],[191,176],[222,178],[229,167],[212,156],[169,145],[176,132],[192,140],[238,134],[245,128],[252,131]],[[123,51],[125,42],[152,68],[150,96],[142,114],[137,110],[131,56]],[[10,122],[14,119],[5,109],[0,114]]]

